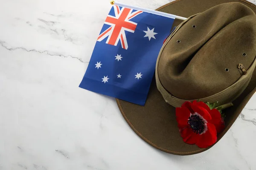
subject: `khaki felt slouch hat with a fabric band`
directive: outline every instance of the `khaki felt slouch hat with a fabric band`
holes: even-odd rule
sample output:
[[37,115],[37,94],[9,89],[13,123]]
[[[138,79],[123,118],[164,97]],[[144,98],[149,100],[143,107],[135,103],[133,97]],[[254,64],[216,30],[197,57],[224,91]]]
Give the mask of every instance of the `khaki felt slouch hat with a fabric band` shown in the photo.
[[[176,0],[157,10],[188,17],[160,50],[145,106],[116,99],[131,128],[167,153],[191,155],[207,148],[183,142],[175,108],[186,101],[218,102],[225,128],[256,92],[256,6],[244,0]],[[215,142],[216,143],[216,142]]]

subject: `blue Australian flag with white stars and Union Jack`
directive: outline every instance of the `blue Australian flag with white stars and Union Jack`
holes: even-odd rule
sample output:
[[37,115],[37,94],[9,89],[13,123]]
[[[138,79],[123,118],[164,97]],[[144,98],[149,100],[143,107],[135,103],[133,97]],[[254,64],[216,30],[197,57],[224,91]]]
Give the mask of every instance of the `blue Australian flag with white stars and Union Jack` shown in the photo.
[[112,6],[79,85],[144,105],[157,56],[174,18]]

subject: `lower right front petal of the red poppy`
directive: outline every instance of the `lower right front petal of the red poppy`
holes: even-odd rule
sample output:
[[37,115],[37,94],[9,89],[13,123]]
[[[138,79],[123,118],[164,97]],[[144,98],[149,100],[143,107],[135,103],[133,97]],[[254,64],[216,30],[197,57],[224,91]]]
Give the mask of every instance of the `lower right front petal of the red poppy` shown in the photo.
[[201,148],[206,148],[211,146],[217,141],[217,132],[215,129],[215,126],[211,123],[207,123],[207,131],[205,133],[202,133],[199,138],[196,145]]

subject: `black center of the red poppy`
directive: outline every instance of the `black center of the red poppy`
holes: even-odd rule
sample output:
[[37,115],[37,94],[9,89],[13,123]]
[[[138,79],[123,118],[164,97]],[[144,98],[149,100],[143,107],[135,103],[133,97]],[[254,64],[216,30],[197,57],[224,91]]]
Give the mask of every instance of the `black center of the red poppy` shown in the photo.
[[192,131],[201,134],[204,132],[204,121],[198,115],[191,115],[189,117],[188,124],[192,128]]

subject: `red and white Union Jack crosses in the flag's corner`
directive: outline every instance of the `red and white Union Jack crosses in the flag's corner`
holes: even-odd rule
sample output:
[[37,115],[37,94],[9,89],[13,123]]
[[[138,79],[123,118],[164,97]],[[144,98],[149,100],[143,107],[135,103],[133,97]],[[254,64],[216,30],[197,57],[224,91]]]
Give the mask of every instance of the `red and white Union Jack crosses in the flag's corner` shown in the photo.
[[143,11],[132,11],[133,10],[129,8],[120,9],[119,6],[114,6],[115,16],[108,15],[105,20],[105,24],[110,27],[99,35],[98,41],[102,41],[108,37],[106,41],[107,44],[117,45],[120,41],[122,48],[127,50],[128,43],[125,31],[134,33],[137,23],[132,22],[131,19],[143,13]]

